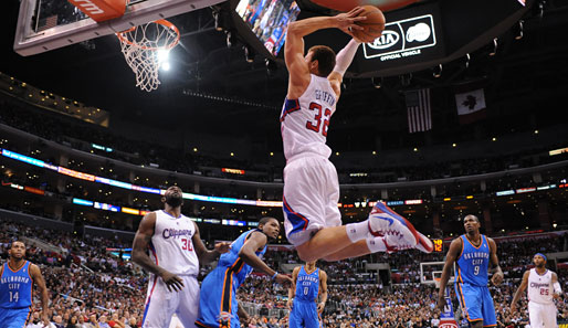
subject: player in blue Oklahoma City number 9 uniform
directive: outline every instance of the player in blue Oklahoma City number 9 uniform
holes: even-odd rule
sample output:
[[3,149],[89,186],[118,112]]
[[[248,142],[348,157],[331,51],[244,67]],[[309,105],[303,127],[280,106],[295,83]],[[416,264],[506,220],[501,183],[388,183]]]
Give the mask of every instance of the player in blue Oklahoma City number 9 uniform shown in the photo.
[[450,271],[457,264],[455,273],[455,294],[464,317],[473,328],[497,326],[495,307],[490,294],[488,267],[493,268],[492,283],[501,284],[503,272],[498,265],[497,245],[495,241],[480,233],[480,219],[466,215],[463,220],[465,234],[452,241],[440,279],[438,306],[445,306],[444,293]]

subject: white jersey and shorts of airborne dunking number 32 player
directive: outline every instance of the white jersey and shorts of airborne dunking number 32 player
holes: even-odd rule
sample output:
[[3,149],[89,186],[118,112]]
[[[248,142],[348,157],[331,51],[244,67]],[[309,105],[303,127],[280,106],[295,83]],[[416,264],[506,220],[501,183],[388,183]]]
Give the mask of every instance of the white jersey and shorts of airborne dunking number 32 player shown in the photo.
[[324,226],[341,224],[337,171],[328,160],[332,149],[326,145],[336,103],[327,77],[314,74],[299,98],[284,103],[280,118],[286,157],[284,228],[293,244],[303,244]]

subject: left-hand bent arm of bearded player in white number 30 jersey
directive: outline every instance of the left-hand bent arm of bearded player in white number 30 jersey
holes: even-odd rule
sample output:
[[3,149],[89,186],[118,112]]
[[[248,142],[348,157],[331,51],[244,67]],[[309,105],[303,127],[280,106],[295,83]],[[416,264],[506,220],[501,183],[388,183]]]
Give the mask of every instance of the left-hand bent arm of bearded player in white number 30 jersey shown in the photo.
[[171,292],[172,288],[173,290],[179,292],[183,288],[183,282],[181,278],[158,266],[154,261],[151,261],[150,256],[148,256],[148,247],[151,242],[151,236],[154,235],[155,226],[156,213],[151,212],[144,215],[140,221],[140,225],[138,226],[138,231],[134,236],[133,261],[146,271],[161,277],[164,283],[166,283],[168,290]]

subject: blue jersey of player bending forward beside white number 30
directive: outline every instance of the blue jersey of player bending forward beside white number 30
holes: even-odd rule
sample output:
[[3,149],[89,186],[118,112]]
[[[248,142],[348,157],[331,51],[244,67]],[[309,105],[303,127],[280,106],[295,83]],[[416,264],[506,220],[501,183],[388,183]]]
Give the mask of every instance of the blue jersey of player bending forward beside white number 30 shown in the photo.
[[[253,268],[245,264],[244,261],[242,261],[241,257],[239,257],[239,252],[241,251],[242,246],[244,245],[244,242],[249,239],[251,233],[253,232],[262,232],[259,229],[250,230],[243,234],[241,234],[232,244],[231,250],[224,254],[221,254],[221,257],[219,257],[219,264],[217,267],[229,267],[232,275],[233,275],[233,284],[239,287],[244,279],[251,274]],[[255,252],[256,256],[262,258],[262,256],[266,253],[266,246],[260,252]]]

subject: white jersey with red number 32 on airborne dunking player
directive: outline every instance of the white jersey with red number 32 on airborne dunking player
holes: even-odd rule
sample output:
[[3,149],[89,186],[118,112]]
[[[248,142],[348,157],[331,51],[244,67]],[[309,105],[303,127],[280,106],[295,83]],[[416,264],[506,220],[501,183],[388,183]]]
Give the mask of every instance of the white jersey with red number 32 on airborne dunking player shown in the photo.
[[312,74],[312,81],[297,99],[286,99],[281,121],[286,160],[297,155],[320,155],[328,158],[327,127],[335,113],[337,95],[327,77]]

